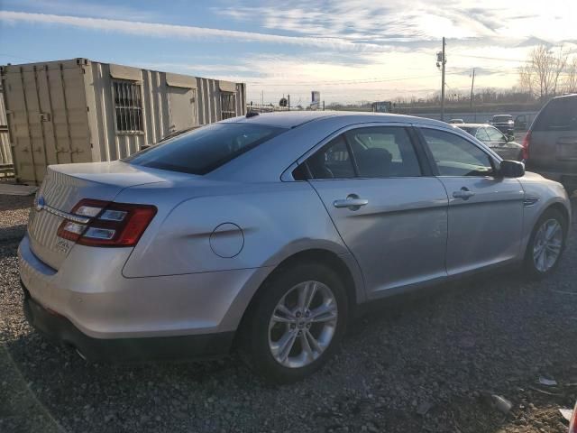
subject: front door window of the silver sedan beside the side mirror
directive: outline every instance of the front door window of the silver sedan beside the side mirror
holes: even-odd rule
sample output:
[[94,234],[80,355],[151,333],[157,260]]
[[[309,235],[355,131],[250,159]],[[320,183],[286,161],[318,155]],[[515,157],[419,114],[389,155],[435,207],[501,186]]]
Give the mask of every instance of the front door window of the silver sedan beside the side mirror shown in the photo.
[[490,157],[459,135],[422,128],[440,176],[491,176]]

